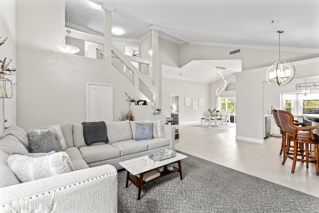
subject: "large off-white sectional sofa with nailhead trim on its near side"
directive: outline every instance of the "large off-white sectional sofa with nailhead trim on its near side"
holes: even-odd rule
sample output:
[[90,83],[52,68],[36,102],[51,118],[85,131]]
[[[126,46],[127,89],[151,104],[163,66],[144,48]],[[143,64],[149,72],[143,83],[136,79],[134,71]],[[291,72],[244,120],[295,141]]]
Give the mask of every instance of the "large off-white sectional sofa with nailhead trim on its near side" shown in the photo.
[[[51,204],[56,212],[117,212],[117,169],[119,162],[147,155],[161,149],[174,149],[175,127],[162,125],[163,137],[134,140],[135,124],[147,121],[106,122],[108,142],[87,145],[82,124],[59,124],[65,139],[72,172],[21,183],[7,165],[13,153],[28,154],[27,131],[11,126],[0,135],[0,213],[10,204],[36,210]],[[57,126],[57,125],[55,125]],[[42,127],[39,129],[48,129]]]

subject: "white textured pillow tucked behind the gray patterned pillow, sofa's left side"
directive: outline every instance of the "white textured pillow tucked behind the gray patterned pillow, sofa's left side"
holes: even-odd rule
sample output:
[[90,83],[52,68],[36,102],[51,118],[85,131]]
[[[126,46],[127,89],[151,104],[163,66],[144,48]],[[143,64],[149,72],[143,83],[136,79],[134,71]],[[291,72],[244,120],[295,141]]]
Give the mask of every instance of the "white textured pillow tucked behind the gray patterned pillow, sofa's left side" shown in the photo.
[[28,130],[26,133],[28,134],[28,137],[34,137],[38,135],[42,135],[43,133],[46,133],[48,130],[51,131],[53,134],[56,142],[58,142],[59,147],[62,151],[66,150],[68,146],[66,145],[62,129],[59,125],[54,125],[51,127],[48,127],[46,129],[33,129],[33,130]]

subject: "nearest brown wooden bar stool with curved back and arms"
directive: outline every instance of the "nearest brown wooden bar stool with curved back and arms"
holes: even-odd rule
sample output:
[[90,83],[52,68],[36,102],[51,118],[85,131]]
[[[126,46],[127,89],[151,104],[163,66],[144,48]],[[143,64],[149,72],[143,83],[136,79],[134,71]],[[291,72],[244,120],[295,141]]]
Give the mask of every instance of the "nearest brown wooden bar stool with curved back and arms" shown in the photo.
[[[314,133],[314,130],[319,130],[319,126],[298,127],[294,124],[294,116],[287,111],[277,110],[280,125],[286,132],[286,151],[284,161],[287,158],[292,158],[293,166],[291,173],[295,172],[296,162],[306,162],[306,168],[309,168],[309,163],[316,164],[316,175],[319,176],[319,158],[318,158],[318,143],[319,136]],[[305,131],[308,130],[308,131]],[[310,131],[309,131],[310,130]],[[289,154],[291,142],[294,144],[293,156]],[[311,145],[315,146],[315,155],[312,155]],[[298,152],[298,149],[302,152]],[[284,162],[283,162],[284,163]]]

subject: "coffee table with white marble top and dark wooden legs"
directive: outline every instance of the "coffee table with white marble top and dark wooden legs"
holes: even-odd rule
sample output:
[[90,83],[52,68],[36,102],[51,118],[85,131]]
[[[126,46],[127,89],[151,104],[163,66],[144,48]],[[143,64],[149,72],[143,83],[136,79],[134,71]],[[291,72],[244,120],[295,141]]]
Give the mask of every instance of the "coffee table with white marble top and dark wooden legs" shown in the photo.
[[[126,179],[126,188],[128,188],[129,181],[131,181],[135,186],[139,188],[138,200],[141,198],[142,186],[148,182],[143,181],[144,174],[151,172],[152,170],[156,170],[160,167],[164,167],[164,171],[160,172],[160,176],[154,178],[153,180],[159,179],[163,176],[169,175],[174,172],[179,172],[180,180],[183,180],[181,175],[181,165],[180,160],[187,158],[187,156],[176,153],[176,156],[173,158],[168,158],[162,161],[154,161],[149,156],[142,156],[139,158],[134,158],[127,161],[122,161],[119,164],[127,170],[127,179]],[[165,167],[168,164],[178,164],[178,168],[173,167],[172,171],[167,170]],[[136,175],[140,175],[140,178]],[[151,181],[153,181],[151,180]]]

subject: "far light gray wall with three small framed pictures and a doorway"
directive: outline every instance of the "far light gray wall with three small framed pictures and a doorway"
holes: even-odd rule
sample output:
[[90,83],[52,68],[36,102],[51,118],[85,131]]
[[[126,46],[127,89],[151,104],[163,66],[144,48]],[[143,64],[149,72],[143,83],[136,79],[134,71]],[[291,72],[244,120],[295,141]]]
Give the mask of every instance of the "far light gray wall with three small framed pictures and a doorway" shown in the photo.
[[[200,121],[203,111],[209,108],[209,84],[174,78],[162,78],[162,114],[169,115],[170,95],[179,95],[179,122]],[[190,98],[190,106],[185,106],[185,97]],[[204,98],[204,106],[199,106],[198,98]],[[197,109],[192,109],[192,101],[197,101]]]

